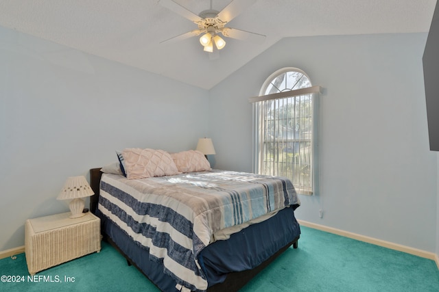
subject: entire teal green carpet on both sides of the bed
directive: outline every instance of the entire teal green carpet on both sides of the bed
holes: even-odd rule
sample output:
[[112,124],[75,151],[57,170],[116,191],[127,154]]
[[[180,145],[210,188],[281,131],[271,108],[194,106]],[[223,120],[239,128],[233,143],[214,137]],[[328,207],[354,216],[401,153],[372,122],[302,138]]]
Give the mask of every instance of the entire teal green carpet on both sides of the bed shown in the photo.
[[[40,271],[40,282],[28,280],[25,254],[1,259],[1,275],[24,276],[24,282],[2,281],[0,291],[158,291],[105,242],[100,253]],[[299,248],[289,248],[241,289],[250,291],[437,292],[439,271],[425,258],[302,226]]]

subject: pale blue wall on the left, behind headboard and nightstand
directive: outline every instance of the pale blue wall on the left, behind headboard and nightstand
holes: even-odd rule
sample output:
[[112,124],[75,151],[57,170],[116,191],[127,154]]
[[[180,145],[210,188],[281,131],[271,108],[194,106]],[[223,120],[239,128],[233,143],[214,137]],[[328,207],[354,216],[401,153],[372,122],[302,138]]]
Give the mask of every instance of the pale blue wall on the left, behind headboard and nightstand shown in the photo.
[[24,244],[27,218],[68,211],[56,200],[66,178],[88,177],[115,150],[195,148],[208,131],[206,96],[0,27],[0,250]]

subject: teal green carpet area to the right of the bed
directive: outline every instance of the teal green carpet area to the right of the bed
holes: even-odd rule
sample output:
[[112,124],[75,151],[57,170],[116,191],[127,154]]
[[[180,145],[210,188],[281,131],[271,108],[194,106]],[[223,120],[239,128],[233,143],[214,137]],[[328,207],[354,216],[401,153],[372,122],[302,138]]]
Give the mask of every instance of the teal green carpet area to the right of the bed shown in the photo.
[[241,292],[439,291],[434,261],[301,226],[289,248]]

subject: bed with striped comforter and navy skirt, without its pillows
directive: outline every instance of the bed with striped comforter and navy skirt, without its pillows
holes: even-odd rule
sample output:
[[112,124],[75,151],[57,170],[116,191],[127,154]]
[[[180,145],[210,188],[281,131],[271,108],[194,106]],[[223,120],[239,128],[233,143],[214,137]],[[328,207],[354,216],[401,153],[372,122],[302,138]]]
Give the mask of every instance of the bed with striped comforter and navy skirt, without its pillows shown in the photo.
[[146,178],[101,168],[90,174],[91,211],[104,239],[161,291],[238,291],[298,247],[300,201],[286,178],[210,168]]

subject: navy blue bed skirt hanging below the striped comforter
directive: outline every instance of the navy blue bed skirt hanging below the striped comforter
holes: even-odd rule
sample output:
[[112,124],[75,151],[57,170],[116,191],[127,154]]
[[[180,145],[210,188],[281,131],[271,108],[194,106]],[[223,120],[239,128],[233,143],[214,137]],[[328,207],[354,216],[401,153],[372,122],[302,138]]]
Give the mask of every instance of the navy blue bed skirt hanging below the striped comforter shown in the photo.
[[[119,249],[143,271],[162,291],[177,292],[176,282],[163,272],[163,263],[150,261],[149,251],[133,241],[123,230],[105,215],[101,218],[102,233],[108,235]],[[219,240],[208,245],[198,256],[209,287],[224,282],[228,273],[257,267],[300,235],[300,226],[292,207],[279,211],[269,220],[252,224],[228,240]]]

